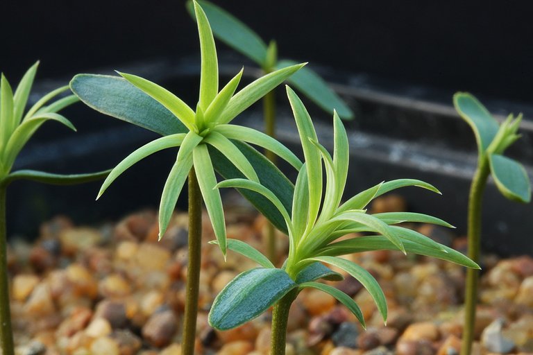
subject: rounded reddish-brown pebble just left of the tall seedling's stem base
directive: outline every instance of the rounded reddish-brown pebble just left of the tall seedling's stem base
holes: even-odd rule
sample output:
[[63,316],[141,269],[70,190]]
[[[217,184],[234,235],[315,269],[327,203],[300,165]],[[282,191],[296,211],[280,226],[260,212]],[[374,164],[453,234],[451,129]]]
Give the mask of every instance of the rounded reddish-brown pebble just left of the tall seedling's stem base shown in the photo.
[[177,323],[173,311],[154,313],[142,327],[142,336],[155,347],[167,346],[176,333]]

